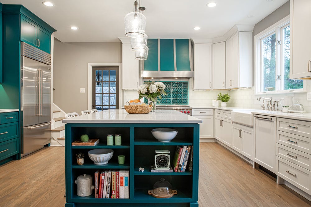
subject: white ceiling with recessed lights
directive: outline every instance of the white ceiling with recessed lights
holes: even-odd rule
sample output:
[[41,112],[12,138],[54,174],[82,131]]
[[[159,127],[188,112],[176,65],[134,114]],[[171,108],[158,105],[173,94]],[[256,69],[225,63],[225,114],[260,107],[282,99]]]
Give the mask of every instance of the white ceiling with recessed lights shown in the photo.
[[[22,4],[51,25],[62,42],[118,42],[125,37],[124,16],[135,0],[0,0]],[[46,0],[47,1],[47,0]],[[141,0],[148,38],[215,38],[234,25],[255,25],[288,0]],[[139,2],[139,0],[137,0]],[[216,2],[214,8],[208,2]],[[253,18],[247,16],[253,15]],[[70,26],[77,26],[72,30]],[[200,30],[193,30],[199,26]]]

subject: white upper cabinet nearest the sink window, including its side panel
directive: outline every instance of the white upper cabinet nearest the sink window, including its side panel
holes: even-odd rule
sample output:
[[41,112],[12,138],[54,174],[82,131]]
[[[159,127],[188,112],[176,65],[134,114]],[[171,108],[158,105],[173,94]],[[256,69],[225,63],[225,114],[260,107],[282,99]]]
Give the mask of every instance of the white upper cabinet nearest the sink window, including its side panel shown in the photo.
[[226,88],[253,86],[253,33],[237,32],[226,41]]

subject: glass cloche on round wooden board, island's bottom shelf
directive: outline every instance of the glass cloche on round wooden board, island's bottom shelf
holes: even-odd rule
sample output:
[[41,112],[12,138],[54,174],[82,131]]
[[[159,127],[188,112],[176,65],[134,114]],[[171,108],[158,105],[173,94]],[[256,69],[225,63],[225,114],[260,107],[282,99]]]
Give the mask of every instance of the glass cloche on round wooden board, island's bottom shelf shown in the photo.
[[176,190],[172,190],[172,185],[161,178],[160,181],[153,185],[153,190],[148,191],[149,195],[155,198],[170,198],[177,194]]

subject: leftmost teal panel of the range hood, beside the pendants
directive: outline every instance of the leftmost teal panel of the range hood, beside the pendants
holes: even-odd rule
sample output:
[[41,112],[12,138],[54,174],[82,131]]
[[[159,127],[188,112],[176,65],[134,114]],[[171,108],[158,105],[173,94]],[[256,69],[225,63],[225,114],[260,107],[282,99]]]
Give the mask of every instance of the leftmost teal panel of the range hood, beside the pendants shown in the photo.
[[144,70],[158,70],[158,39],[148,39],[148,57],[144,63]]

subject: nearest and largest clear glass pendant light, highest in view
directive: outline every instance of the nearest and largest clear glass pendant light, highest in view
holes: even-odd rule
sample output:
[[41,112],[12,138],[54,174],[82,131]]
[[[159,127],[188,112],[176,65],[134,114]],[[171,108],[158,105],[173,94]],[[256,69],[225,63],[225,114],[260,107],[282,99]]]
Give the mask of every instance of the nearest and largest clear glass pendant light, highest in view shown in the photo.
[[143,37],[146,28],[146,16],[137,11],[138,3],[134,2],[134,11],[124,17],[125,35],[130,38]]

